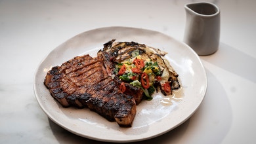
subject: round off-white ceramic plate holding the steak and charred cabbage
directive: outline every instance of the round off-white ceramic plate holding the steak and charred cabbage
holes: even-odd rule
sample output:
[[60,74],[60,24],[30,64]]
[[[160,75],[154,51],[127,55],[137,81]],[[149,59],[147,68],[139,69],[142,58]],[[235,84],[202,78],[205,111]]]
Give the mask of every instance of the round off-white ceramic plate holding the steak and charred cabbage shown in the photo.
[[[103,44],[111,39],[135,41],[168,52],[166,58],[179,74],[182,85],[173,96],[154,94],[152,101],[142,101],[137,106],[137,115],[131,128],[120,128],[116,122],[109,122],[89,109],[63,108],[43,84],[51,67],[82,54],[96,56]],[[202,103],[207,77],[194,50],[172,37],[147,29],[103,27],[76,35],[50,52],[39,65],[33,85],[39,105],[59,126],[89,139],[131,142],[164,134],[187,120]]]

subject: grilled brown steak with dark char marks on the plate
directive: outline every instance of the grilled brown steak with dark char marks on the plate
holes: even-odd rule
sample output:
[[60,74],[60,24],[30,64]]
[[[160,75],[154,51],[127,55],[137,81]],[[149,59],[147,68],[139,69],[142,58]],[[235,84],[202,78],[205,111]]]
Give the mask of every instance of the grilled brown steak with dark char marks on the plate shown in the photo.
[[131,126],[136,114],[132,96],[121,93],[101,58],[77,56],[53,67],[45,77],[45,86],[63,107],[88,107],[119,126]]

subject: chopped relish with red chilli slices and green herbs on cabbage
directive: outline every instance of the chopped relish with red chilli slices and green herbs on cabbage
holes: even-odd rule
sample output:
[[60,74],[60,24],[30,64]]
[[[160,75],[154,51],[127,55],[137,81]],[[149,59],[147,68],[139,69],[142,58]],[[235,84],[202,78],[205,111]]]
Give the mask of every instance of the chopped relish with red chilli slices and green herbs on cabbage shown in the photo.
[[[133,86],[139,86],[144,90],[148,99],[155,92],[155,82],[161,81],[161,71],[158,62],[153,62],[150,58],[142,59],[138,55],[124,62],[117,63],[114,71],[123,82],[129,82]],[[122,91],[125,90],[122,84]]]

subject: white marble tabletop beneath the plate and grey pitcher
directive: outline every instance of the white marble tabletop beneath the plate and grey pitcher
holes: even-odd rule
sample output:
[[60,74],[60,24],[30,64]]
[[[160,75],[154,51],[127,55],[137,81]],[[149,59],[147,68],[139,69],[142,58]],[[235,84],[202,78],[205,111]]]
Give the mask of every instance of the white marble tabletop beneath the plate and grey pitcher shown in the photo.
[[[56,46],[98,27],[152,29],[182,41],[190,2],[0,1],[0,143],[102,143],[47,118],[33,93],[37,66]],[[209,2],[221,9],[221,44],[200,56],[208,78],[202,105],[175,130],[137,143],[256,143],[256,1]]]

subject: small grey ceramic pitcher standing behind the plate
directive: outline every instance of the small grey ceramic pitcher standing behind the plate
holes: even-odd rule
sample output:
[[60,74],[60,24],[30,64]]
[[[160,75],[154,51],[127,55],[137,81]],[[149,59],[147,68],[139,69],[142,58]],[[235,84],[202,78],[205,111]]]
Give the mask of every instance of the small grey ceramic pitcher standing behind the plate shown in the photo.
[[220,10],[213,3],[190,3],[186,10],[184,43],[198,55],[209,55],[219,48]]

